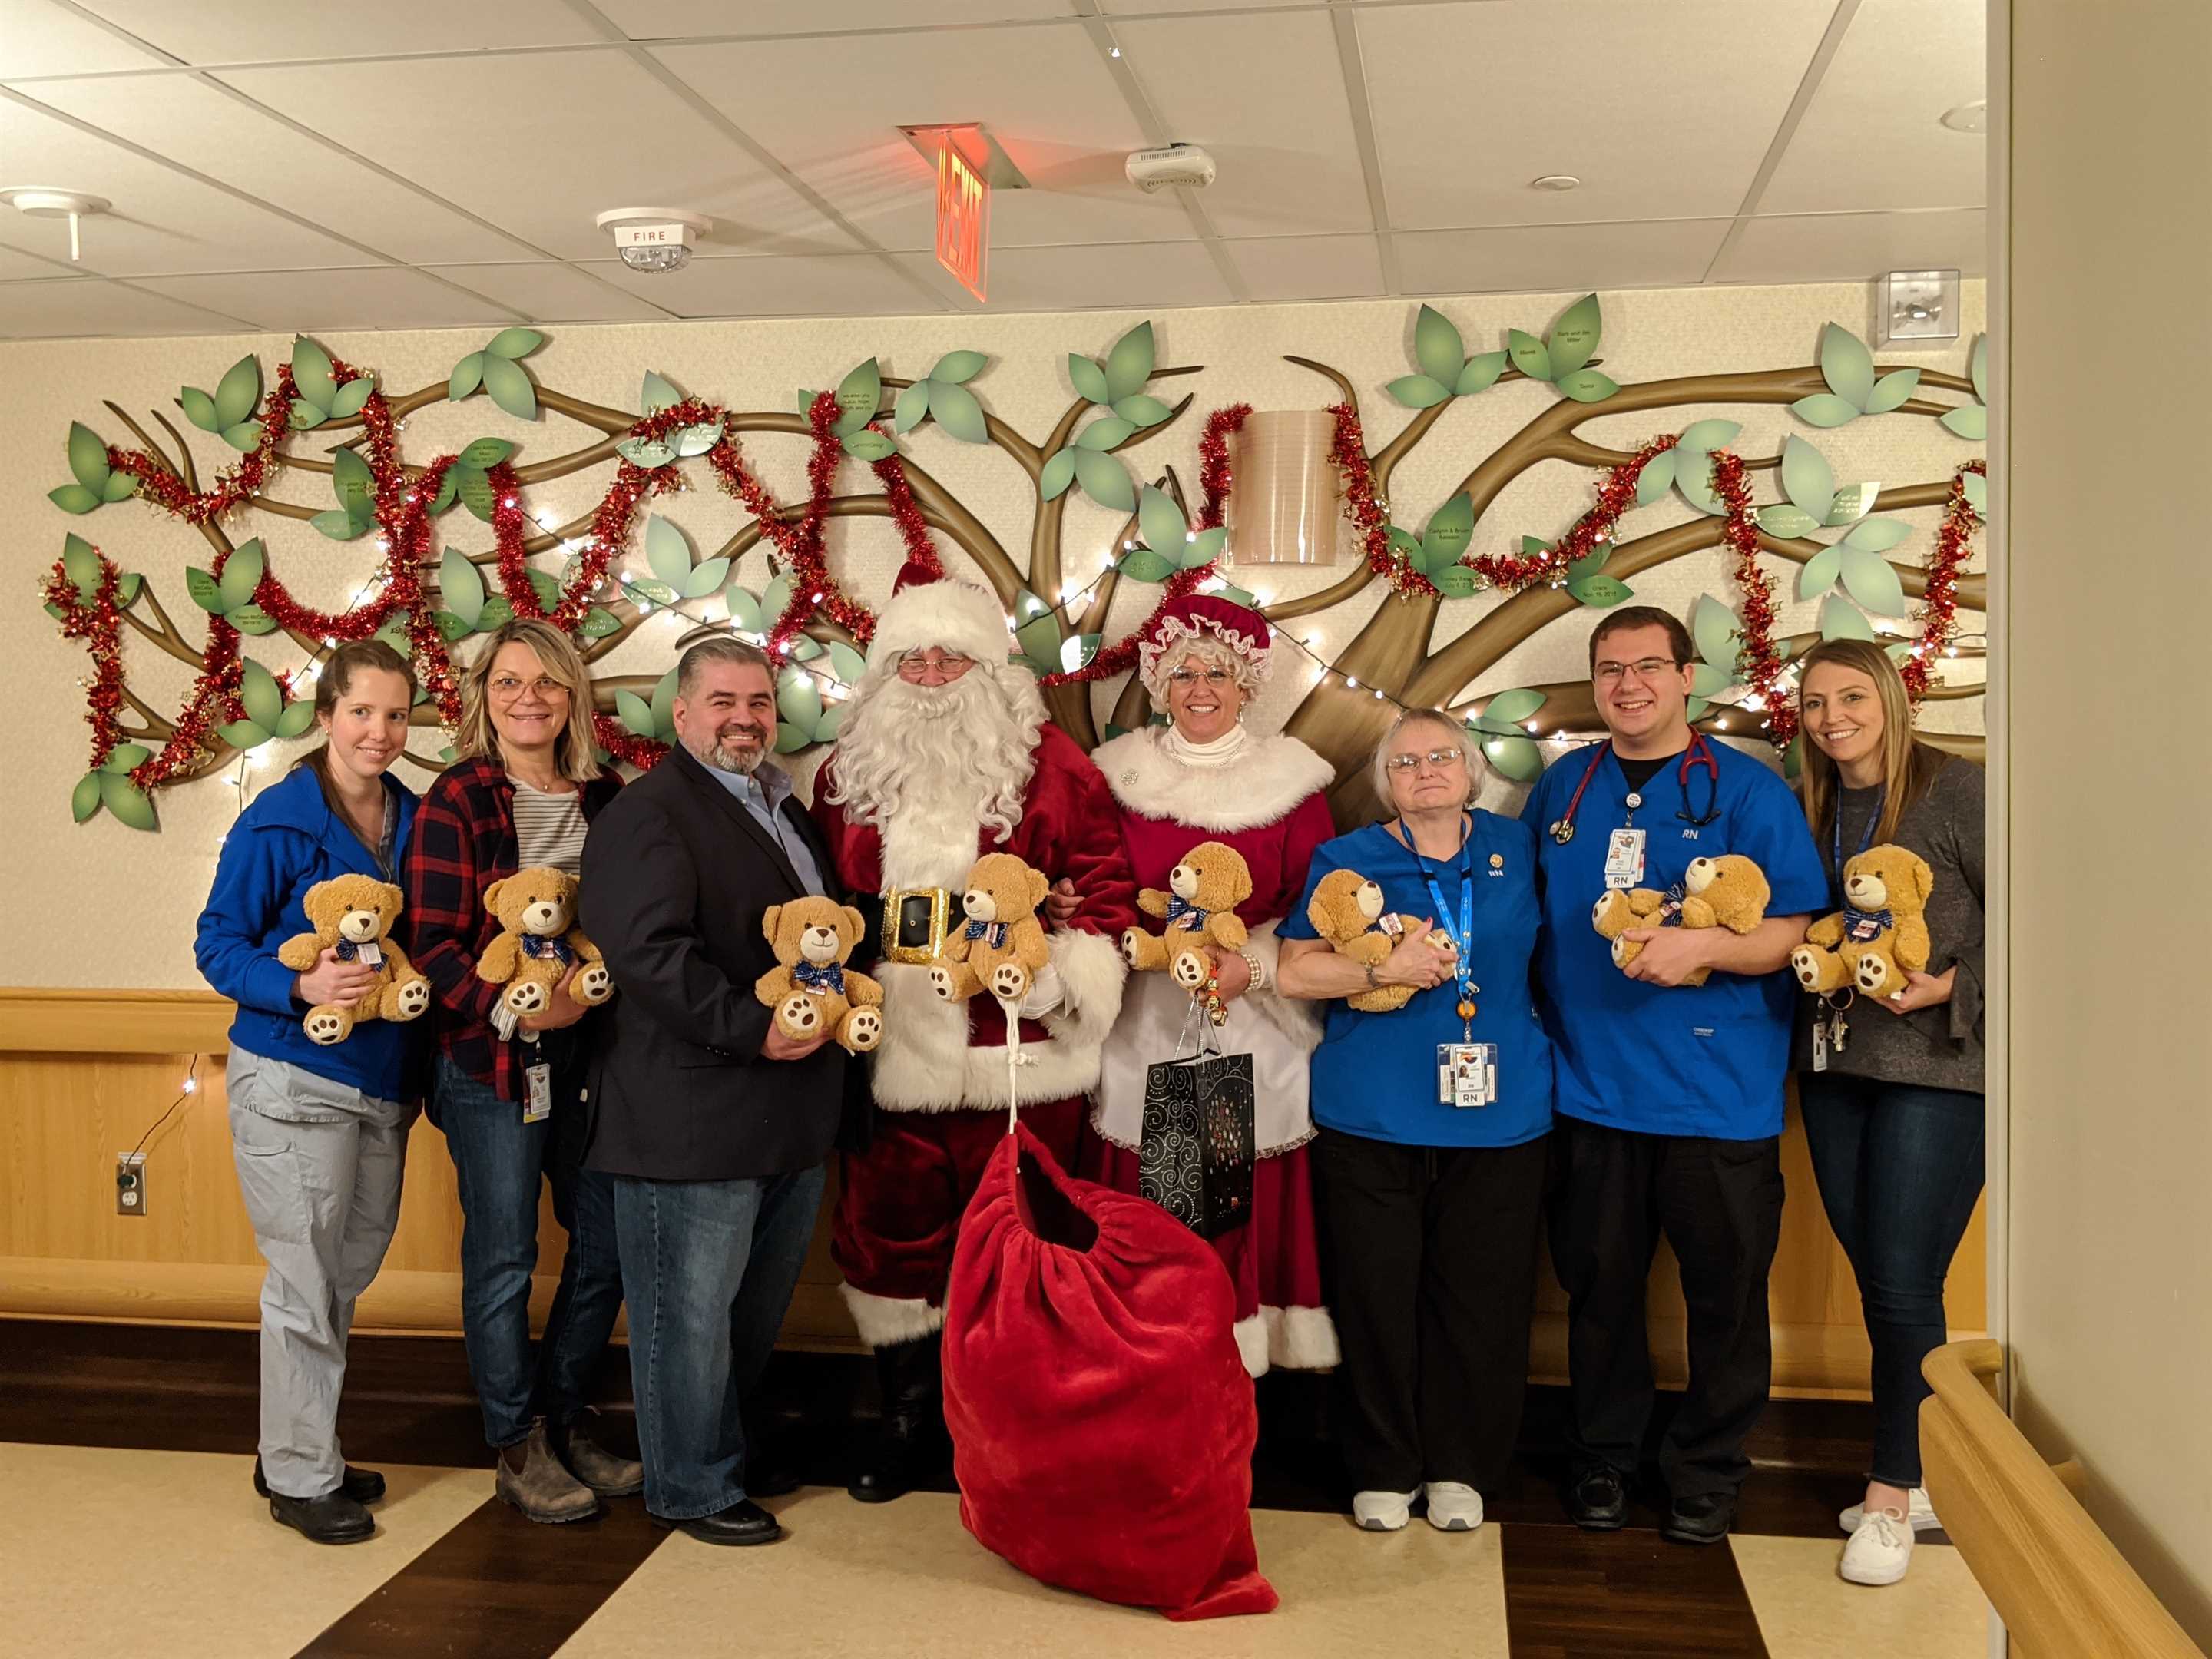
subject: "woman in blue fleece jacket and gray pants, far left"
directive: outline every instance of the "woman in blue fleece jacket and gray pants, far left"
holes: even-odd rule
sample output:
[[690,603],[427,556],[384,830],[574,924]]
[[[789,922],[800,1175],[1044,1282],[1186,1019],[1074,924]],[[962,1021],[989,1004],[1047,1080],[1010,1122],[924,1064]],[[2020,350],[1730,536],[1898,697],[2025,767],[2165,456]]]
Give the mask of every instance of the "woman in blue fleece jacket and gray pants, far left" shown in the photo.
[[354,1298],[400,1214],[407,1124],[422,1093],[416,1024],[369,1020],[319,1046],[316,1002],[352,1002],[374,971],[323,951],[294,973],[276,947],[312,931],[303,900],[332,876],[396,880],[416,796],[385,776],[407,743],[414,670],[380,639],[338,646],[314,690],[325,743],[254,796],[223,838],[195,958],[239,1004],[230,1024],[230,1144],[268,1261],[261,1281],[261,1455],[254,1491],[316,1544],[376,1531],[385,1478],[347,1469],[338,1389]]

